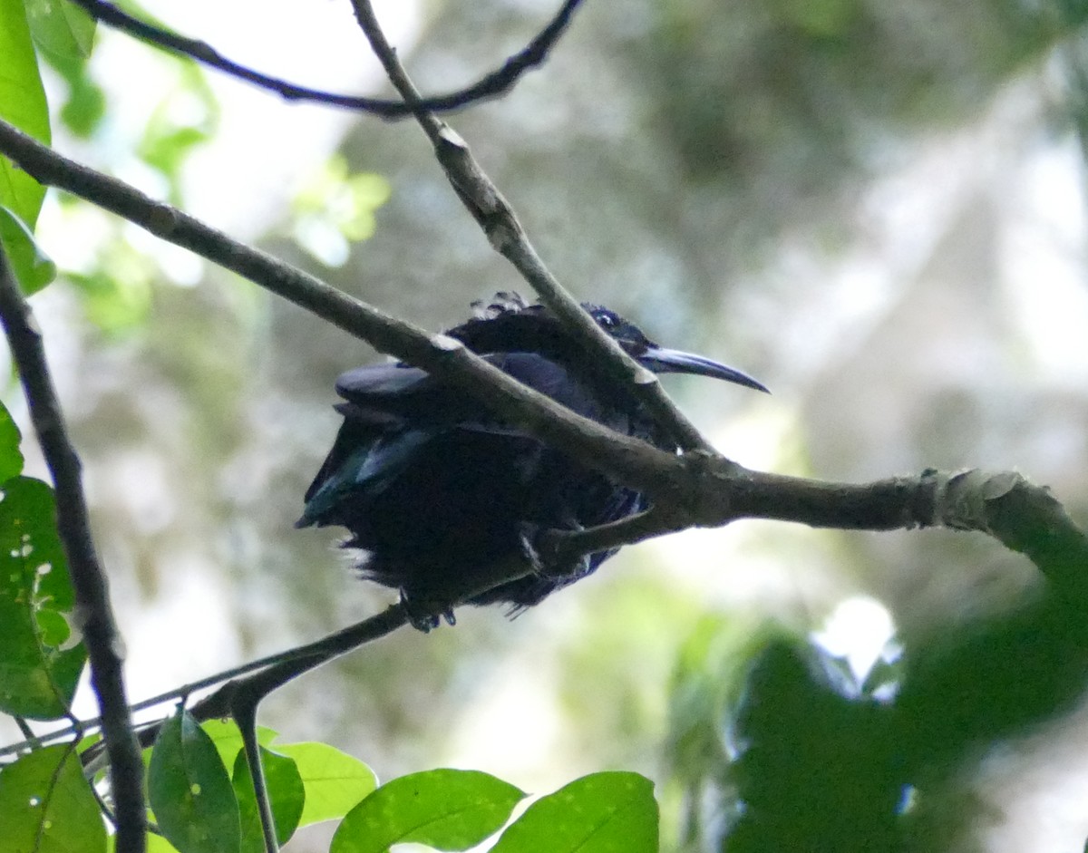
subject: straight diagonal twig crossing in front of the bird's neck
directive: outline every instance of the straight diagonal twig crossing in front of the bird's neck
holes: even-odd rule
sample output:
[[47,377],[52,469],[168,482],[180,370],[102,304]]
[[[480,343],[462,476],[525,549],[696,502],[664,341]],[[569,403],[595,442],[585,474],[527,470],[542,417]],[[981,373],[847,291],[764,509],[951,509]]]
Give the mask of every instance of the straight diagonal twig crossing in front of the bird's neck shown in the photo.
[[653,371],[639,364],[622,347],[602,330],[579,301],[561,285],[544,264],[518,215],[498,187],[477,162],[465,140],[432,115],[420,98],[396,51],[385,38],[370,0],[351,0],[356,18],[370,41],[374,55],[385,69],[394,88],[412,108],[412,114],[434,146],[435,157],[454,187],[461,203],[480,223],[489,242],[506,258],[570,329],[589,356],[601,359],[618,382],[632,383],[643,405],[655,421],[683,450],[710,450],[702,433],[688,420],[662,388]]

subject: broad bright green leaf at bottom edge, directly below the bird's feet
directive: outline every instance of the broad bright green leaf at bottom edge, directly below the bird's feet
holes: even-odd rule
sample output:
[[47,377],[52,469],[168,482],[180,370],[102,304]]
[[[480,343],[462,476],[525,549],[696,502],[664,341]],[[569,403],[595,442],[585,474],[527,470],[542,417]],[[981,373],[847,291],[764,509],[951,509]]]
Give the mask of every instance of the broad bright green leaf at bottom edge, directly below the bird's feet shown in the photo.
[[404,841],[467,850],[498,830],[524,796],[524,791],[478,770],[401,776],[348,812],[330,853],[382,853]]

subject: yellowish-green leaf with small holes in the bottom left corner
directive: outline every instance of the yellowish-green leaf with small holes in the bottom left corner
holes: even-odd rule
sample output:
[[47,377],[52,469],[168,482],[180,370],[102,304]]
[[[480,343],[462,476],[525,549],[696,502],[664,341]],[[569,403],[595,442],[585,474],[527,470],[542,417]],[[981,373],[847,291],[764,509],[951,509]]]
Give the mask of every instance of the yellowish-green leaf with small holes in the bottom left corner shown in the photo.
[[0,770],[0,849],[103,853],[106,826],[67,745],[46,746]]

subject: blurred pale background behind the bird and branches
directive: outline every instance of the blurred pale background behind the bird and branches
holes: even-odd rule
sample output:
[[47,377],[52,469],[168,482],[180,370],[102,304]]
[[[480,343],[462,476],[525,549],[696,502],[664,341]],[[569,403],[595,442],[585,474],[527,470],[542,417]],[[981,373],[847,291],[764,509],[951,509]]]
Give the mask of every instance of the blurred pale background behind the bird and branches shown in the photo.
[[[434,91],[499,64],[556,3],[378,7]],[[385,91],[347,3],[147,9],[269,73]],[[588,2],[542,70],[449,121],[576,295],[770,386],[667,380],[728,456],[849,481],[1017,469],[1085,522],[1086,20],[1077,0]],[[61,151],[372,305],[438,330],[526,290],[409,122],[286,104],[110,32],[81,78],[47,83]],[[71,199],[51,197],[39,234],[66,271],[35,307],[132,696],[385,606],[336,531],[292,528],[337,428],[335,376],[381,356]],[[841,664],[832,693],[887,707],[903,650],[989,636],[1039,594],[982,536],[742,522],[627,548],[514,621],[463,610],[400,631],[289,685],[262,721],[382,779],[450,765],[542,793],[638,769],[666,849],[713,849],[744,813],[722,762],[744,753],[728,731],[758,662],[790,670],[783,647],[807,647]],[[956,752],[928,811],[900,780],[897,814],[948,830],[917,849],[1084,848],[1081,676]]]

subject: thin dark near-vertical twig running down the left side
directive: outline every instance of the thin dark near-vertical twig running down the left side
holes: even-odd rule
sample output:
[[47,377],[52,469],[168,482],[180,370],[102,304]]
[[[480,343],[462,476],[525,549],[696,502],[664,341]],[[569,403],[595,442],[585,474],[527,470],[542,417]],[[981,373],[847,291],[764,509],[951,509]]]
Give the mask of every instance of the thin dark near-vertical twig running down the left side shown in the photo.
[[119,853],[141,853],[147,819],[144,807],[144,765],[133,733],[122,671],[122,640],[110,606],[106,576],[95,553],[81,478],[81,462],[67,436],[53,390],[41,334],[0,247],[0,320],[38,444],[57,491],[57,530],[64,545],[76,615],[90,658],[90,683],[102,717],[102,735],[113,767]]

